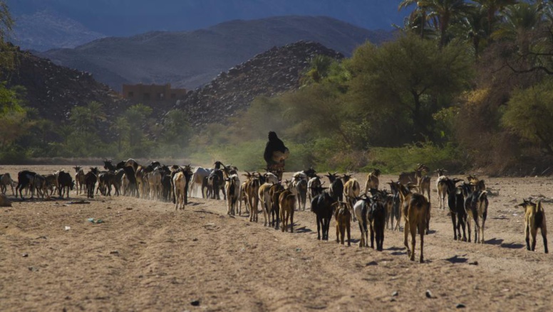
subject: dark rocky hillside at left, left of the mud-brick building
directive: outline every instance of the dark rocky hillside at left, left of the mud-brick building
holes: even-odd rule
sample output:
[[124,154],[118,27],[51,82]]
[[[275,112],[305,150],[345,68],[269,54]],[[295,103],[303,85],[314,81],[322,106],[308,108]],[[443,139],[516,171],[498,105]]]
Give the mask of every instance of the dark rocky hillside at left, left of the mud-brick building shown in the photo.
[[90,72],[58,66],[19,49],[16,64],[13,71],[0,71],[0,81],[6,80],[8,87],[25,87],[26,105],[43,118],[63,122],[73,107],[91,101],[102,102],[108,117],[128,106],[110,87],[94,80]]

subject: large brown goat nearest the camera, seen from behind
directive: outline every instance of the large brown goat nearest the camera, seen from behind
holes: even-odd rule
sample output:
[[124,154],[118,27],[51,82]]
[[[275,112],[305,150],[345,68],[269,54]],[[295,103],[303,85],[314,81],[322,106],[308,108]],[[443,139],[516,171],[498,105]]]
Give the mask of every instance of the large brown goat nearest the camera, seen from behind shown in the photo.
[[[424,197],[424,195],[418,193],[411,193],[405,185],[399,185],[399,194],[401,198],[403,220],[405,225],[403,232],[405,233],[403,244],[407,248],[407,253],[410,254],[410,260],[415,261],[415,237],[417,230],[420,234],[420,263],[424,262],[424,235],[425,235],[425,223],[430,215],[430,202]],[[411,249],[407,243],[408,235],[411,235]]]

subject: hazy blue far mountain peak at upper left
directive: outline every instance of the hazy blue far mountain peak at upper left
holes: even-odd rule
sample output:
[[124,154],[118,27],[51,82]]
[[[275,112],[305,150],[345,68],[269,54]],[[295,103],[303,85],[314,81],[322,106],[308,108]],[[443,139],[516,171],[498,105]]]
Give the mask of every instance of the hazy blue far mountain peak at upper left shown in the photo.
[[105,35],[90,31],[78,21],[55,11],[36,11],[16,19],[16,33],[11,41],[33,50],[74,48],[77,45],[103,38]]

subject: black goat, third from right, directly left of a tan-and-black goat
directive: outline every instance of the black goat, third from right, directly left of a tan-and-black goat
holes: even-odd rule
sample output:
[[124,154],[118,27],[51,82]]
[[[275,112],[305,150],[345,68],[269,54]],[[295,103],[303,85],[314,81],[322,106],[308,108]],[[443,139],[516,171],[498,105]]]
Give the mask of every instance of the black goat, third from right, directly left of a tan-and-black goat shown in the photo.
[[[445,194],[448,196],[448,207],[453,223],[453,240],[467,241],[465,224],[467,222],[467,212],[465,210],[465,198],[462,195],[462,188],[455,184],[461,181],[458,178],[443,178],[442,183],[446,186]],[[462,238],[461,230],[462,227]]]

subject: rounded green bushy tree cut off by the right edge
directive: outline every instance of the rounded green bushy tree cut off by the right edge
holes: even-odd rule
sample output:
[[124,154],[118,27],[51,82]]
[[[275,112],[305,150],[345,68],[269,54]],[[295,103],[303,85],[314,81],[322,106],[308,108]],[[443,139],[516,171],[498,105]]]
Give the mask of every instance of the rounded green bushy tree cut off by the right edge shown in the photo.
[[513,93],[502,124],[517,135],[539,144],[553,156],[553,81],[551,79]]

